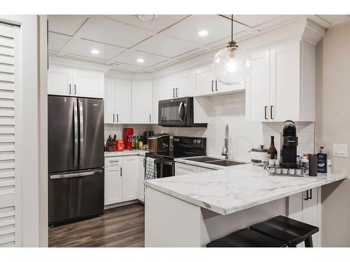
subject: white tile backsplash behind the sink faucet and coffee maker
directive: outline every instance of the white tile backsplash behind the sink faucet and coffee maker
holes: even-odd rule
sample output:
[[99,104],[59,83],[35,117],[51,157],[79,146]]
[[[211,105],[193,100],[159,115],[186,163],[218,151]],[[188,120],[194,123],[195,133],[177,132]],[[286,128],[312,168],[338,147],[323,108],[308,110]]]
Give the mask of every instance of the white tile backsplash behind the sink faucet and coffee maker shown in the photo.
[[[157,133],[169,132],[174,136],[206,137],[207,154],[221,157],[225,124],[229,124],[230,159],[250,161],[248,151],[259,145],[265,145],[268,148],[271,136],[274,136],[275,146],[279,152],[279,133],[282,130],[282,123],[246,122],[244,93],[215,96],[209,103],[211,110],[207,129],[166,128],[153,125],[153,130]],[[314,152],[314,123],[297,122],[297,136],[299,154]]]

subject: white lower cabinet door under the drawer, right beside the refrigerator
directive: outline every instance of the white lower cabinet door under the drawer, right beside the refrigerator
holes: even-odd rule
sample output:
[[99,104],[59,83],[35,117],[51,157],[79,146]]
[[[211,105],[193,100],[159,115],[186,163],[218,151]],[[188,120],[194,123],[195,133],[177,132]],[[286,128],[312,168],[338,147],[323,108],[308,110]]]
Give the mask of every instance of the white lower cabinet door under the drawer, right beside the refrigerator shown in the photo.
[[104,205],[122,201],[122,167],[111,166],[104,172]]

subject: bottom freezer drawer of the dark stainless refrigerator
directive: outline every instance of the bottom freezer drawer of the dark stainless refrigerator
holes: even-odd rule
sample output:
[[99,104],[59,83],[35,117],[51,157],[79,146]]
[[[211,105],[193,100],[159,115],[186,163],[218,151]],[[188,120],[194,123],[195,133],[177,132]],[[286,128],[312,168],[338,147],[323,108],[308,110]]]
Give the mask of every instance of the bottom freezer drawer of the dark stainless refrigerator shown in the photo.
[[98,214],[104,210],[104,169],[50,174],[49,224]]

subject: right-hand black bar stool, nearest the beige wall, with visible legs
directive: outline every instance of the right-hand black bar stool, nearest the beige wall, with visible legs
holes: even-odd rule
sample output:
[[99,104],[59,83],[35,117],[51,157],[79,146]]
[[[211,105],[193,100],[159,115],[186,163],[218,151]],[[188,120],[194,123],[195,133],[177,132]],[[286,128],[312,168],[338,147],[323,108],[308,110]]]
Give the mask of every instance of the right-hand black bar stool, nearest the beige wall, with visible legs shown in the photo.
[[283,216],[274,217],[250,226],[250,228],[271,238],[281,240],[288,247],[296,247],[301,242],[305,242],[305,247],[313,247],[312,235],[319,230],[317,226]]

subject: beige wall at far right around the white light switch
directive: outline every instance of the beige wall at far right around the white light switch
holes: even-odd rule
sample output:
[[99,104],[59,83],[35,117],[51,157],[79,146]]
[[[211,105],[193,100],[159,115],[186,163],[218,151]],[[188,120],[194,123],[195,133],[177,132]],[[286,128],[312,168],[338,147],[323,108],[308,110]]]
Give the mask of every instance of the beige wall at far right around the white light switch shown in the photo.
[[[350,22],[331,27],[316,47],[315,147],[323,145],[337,173],[349,158],[332,157],[332,143],[350,144]],[[350,182],[322,189],[322,245],[350,247]]]

